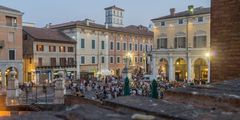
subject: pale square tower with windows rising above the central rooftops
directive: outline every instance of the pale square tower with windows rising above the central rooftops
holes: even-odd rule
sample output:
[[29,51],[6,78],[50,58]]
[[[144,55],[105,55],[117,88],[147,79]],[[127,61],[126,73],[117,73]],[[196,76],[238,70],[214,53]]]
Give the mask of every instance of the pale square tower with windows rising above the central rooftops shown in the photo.
[[106,19],[105,24],[112,27],[123,27],[123,12],[124,9],[118,8],[115,5],[105,8]]

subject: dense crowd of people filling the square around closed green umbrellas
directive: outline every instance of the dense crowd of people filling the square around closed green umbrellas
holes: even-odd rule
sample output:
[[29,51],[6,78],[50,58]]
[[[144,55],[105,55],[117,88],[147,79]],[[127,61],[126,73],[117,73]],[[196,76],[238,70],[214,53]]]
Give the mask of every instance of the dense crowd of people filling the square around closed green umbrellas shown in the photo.
[[[115,77],[105,77],[100,80],[96,78],[88,80],[69,81],[66,88],[71,94],[84,96],[90,99],[103,100],[123,96],[124,80]],[[159,98],[163,98],[164,91],[169,88],[187,86],[181,82],[157,81]],[[132,78],[129,82],[130,94],[132,96],[151,96],[151,82],[143,81],[141,78]]]

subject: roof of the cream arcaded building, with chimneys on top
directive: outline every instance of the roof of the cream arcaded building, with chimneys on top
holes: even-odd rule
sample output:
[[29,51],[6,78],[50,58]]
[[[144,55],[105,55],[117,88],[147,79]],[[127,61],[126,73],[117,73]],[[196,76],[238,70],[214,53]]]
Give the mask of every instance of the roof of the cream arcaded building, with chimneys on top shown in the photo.
[[185,16],[194,16],[194,15],[201,15],[201,14],[210,14],[210,10],[211,10],[211,8],[198,7],[198,8],[194,9],[193,14],[190,14],[186,10],[186,11],[175,13],[174,16],[167,15],[167,16],[163,16],[163,17],[159,17],[159,18],[154,18],[154,19],[152,19],[152,21],[154,21],[154,20],[162,20],[162,19],[170,19],[170,18],[177,18],[177,17],[185,17]]

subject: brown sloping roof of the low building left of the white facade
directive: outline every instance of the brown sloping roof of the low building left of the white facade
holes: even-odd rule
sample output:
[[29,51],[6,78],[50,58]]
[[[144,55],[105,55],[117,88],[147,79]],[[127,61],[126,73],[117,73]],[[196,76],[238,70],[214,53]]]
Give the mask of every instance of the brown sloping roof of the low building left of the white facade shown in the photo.
[[49,28],[36,28],[36,27],[23,27],[23,31],[28,33],[30,36],[32,36],[35,39],[41,40],[41,41],[51,41],[51,42],[68,42],[68,43],[76,43],[75,40],[71,39],[64,33],[49,29]]

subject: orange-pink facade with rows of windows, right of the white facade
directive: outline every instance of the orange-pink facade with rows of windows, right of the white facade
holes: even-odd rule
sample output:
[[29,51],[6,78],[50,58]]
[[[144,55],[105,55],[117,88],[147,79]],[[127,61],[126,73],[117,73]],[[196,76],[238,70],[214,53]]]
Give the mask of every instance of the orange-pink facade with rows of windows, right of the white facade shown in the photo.
[[131,25],[110,31],[109,38],[109,70],[114,75],[121,76],[126,57],[130,57],[129,72],[134,75],[148,73],[148,53],[153,43],[151,31],[142,25]]

